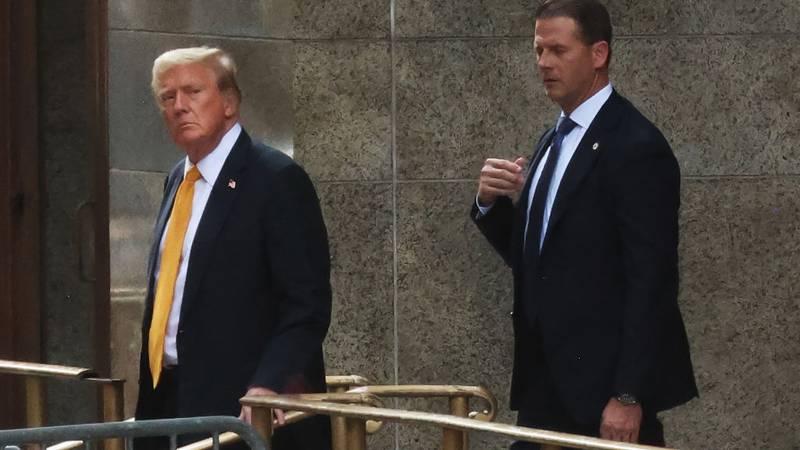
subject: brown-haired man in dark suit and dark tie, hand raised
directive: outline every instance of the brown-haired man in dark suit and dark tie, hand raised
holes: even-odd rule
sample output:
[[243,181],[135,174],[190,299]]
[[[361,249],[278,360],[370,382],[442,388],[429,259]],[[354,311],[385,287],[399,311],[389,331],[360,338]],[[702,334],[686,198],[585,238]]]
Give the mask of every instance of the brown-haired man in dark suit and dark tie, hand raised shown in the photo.
[[680,172],[609,84],[611,36],[597,1],[539,7],[537,65],[562,114],[527,175],[523,158],[486,160],[472,218],[513,270],[519,424],[663,445],[656,413],[697,395],[677,304]]

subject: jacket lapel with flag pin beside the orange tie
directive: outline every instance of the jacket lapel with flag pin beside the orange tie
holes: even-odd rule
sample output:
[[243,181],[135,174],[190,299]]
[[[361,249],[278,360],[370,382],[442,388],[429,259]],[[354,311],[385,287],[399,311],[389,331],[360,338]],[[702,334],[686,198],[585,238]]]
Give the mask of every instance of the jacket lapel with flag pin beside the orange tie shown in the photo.
[[[225,160],[214,187],[211,189],[211,195],[208,197],[208,202],[203,210],[203,216],[200,218],[200,223],[197,226],[197,232],[192,242],[189,268],[183,289],[180,320],[183,320],[197,296],[197,290],[200,288],[203,274],[213,257],[217,236],[228,219],[228,213],[238,193],[242,190],[242,183],[239,180],[242,171],[246,168],[245,163],[247,162],[251,145],[250,137],[242,130],[242,134],[236,140],[236,144],[231,149],[231,153]],[[229,185],[231,181],[238,182],[239,187],[237,188],[235,184]]]

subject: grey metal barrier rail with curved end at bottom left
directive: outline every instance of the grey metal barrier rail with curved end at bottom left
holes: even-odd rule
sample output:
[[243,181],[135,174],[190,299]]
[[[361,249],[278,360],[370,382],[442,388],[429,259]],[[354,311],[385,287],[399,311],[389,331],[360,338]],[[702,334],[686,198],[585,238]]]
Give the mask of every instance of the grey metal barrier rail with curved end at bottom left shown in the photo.
[[0,449],[6,445],[45,444],[65,440],[124,439],[129,442],[131,438],[157,436],[169,436],[174,442],[179,434],[208,433],[219,436],[220,432],[228,430],[238,434],[252,450],[267,450],[253,427],[233,417],[213,416],[0,430]]

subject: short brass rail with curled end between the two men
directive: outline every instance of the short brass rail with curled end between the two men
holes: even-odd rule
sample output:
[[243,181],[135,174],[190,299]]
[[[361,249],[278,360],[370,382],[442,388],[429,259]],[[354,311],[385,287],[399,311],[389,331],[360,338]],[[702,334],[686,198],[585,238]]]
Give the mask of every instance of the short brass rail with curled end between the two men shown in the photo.
[[487,410],[471,411],[468,417],[484,422],[491,422],[497,416],[497,399],[484,386],[458,386],[458,385],[435,385],[435,384],[410,384],[410,385],[372,385],[360,386],[350,389],[347,392],[369,393],[378,397],[396,398],[429,398],[429,397],[476,397],[486,402]]

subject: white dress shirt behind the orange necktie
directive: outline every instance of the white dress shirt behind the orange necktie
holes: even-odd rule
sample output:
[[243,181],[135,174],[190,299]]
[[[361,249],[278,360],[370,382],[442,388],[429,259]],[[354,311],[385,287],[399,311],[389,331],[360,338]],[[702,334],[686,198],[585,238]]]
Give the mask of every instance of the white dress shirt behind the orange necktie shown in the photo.
[[[203,211],[206,209],[208,197],[211,195],[211,189],[217,181],[222,166],[228,155],[239,139],[242,132],[242,126],[236,123],[227,133],[222,137],[217,147],[211,151],[205,158],[197,163],[197,170],[200,172],[201,178],[194,184],[194,198],[192,199],[192,216],[189,218],[189,225],[186,229],[186,236],[183,238],[183,250],[181,251],[180,265],[178,266],[178,277],[175,279],[175,292],[172,297],[172,309],[169,312],[169,320],[167,321],[167,334],[164,336],[164,358],[163,364],[165,366],[178,364],[178,349],[176,345],[176,338],[178,334],[178,321],[181,316],[181,304],[183,303],[183,288],[186,283],[186,271],[189,268],[189,257],[192,252],[192,242],[194,242],[194,235],[197,232],[197,226],[200,224],[200,218],[203,217]],[[186,175],[191,170],[193,164],[186,157],[184,163],[183,174]],[[164,227],[164,234],[161,235],[161,243],[158,249],[158,262],[156,265],[156,283],[158,283],[158,272],[161,265],[161,254],[164,252],[164,238],[169,230],[172,218],[167,222]]]

